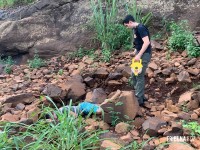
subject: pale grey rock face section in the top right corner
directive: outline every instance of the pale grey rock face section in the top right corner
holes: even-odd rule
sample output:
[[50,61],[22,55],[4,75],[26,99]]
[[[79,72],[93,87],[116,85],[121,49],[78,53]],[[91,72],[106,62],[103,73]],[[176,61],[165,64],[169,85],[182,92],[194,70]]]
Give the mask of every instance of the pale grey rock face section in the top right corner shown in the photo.
[[[155,14],[153,25],[159,27],[159,18],[165,16],[175,20],[189,20],[190,26],[194,29],[200,27],[200,5],[198,0],[141,0],[139,4]],[[158,20],[157,20],[158,19]]]

